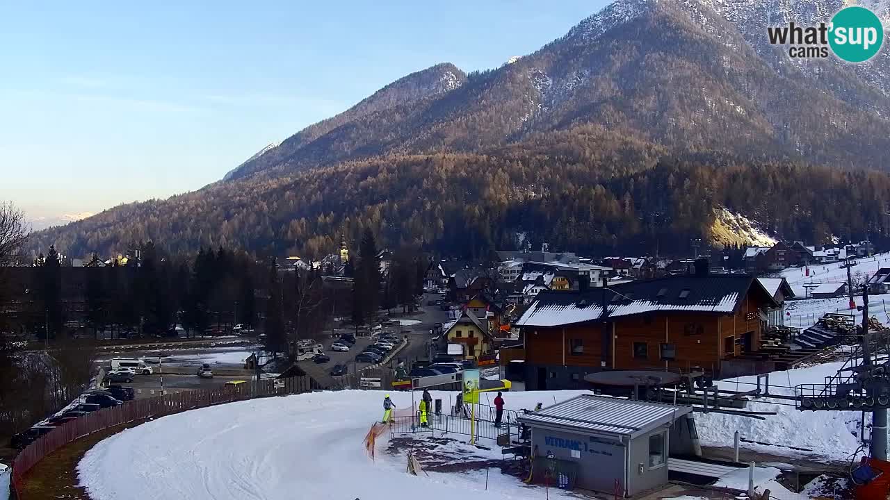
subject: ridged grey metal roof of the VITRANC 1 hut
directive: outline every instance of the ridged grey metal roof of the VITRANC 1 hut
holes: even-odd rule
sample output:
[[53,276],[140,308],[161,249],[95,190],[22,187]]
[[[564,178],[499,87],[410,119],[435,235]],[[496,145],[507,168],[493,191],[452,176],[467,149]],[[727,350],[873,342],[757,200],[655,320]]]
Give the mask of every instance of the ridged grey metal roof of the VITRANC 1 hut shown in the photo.
[[691,411],[692,407],[582,394],[535,413],[519,415],[518,420],[532,427],[634,438]]

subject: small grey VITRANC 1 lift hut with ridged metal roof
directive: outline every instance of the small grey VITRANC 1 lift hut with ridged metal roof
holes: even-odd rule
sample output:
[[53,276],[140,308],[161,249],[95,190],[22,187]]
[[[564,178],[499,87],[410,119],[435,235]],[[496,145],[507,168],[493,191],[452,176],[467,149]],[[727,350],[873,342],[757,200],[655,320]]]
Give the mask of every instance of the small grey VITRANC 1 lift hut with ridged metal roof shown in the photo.
[[666,484],[669,453],[692,456],[697,444],[692,407],[666,403],[581,395],[518,420],[536,478],[615,496]]

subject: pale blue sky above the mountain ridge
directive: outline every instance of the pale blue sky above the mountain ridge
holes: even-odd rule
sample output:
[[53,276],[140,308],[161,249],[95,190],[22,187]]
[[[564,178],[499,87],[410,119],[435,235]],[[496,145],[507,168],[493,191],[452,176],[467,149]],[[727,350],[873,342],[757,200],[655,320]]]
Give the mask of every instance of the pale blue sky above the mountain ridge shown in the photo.
[[196,190],[412,71],[497,67],[605,4],[0,3],[0,200],[38,218]]

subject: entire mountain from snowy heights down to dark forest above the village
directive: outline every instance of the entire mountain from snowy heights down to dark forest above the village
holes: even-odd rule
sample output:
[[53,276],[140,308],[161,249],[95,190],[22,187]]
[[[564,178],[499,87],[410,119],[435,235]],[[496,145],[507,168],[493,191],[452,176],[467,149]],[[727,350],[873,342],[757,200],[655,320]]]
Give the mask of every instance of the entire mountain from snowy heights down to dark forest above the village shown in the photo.
[[[883,19],[887,2],[872,1]],[[68,254],[154,240],[319,254],[373,227],[451,254],[667,251],[723,210],[771,235],[883,238],[890,69],[789,60],[765,27],[841,0],[619,0],[498,69],[440,64],[202,190],[44,231]],[[681,242],[681,243],[678,243]]]

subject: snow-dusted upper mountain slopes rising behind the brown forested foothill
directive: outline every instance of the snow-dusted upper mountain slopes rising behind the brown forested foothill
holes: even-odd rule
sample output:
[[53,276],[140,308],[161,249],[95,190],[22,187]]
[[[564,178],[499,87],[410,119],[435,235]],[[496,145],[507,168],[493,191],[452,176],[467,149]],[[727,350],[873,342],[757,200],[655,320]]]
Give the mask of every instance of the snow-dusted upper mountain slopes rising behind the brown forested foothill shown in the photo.
[[[870,2],[885,20],[888,4]],[[792,60],[766,36],[767,26],[828,20],[843,6],[621,0],[501,68],[464,77],[439,65],[404,77],[232,177],[387,153],[479,151],[580,123],[675,151],[885,168],[890,50],[859,65]]]

